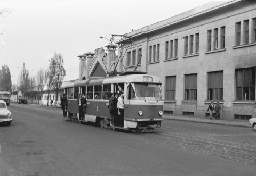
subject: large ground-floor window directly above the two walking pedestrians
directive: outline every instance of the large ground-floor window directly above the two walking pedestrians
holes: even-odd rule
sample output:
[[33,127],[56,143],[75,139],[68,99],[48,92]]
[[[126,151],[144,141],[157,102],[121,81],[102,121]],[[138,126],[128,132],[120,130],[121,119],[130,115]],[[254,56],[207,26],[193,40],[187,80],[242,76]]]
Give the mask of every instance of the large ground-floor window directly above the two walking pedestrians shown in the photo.
[[208,73],[208,100],[223,100],[223,71]]

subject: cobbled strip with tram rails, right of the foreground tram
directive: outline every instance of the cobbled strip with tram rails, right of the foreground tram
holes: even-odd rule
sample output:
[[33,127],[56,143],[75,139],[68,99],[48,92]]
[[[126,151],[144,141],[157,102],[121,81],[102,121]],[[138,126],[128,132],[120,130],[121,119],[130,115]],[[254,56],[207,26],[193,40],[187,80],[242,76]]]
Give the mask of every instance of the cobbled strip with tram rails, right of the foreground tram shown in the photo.
[[193,130],[162,128],[147,138],[184,150],[193,150],[209,157],[256,165],[255,141]]

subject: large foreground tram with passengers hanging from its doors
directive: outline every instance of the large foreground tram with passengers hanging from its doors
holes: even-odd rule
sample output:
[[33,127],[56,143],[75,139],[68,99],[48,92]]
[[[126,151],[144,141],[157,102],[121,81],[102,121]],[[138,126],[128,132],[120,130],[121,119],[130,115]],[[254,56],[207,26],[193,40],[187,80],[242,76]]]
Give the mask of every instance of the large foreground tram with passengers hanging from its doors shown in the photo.
[[[163,98],[159,77],[146,72],[123,72],[108,78],[92,78],[71,82],[65,86],[68,98],[67,113],[72,120],[79,119],[78,95],[86,95],[84,120],[101,128],[150,132],[161,127]],[[124,93],[124,121],[122,127],[110,126],[109,98],[111,93]]]

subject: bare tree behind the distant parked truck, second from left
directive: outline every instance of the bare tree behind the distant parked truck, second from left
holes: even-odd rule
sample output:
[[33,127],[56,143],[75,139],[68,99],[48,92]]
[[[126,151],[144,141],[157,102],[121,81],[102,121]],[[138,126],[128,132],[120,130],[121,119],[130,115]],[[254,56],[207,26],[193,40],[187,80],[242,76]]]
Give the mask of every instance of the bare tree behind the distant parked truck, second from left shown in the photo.
[[28,90],[29,88],[29,72],[25,68],[25,63],[23,63],[23,66],[20,70],[20,75],[18,79],[18,90],[21,91],[22,96],[24,96],[24,93]]

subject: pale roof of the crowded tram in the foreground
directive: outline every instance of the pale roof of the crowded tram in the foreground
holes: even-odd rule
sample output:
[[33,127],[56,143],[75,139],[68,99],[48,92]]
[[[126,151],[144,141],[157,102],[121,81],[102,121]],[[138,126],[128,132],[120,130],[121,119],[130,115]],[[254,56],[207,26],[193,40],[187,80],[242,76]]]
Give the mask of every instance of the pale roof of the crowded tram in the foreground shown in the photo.
[[123,75],[123,76],[76,81],[76,82],[67,84],[65,87],[102,85],[102,84],[110,84],[110,83],[146,82],[146,81],[143,81],[143,77],[151,77],[152,78],[152,81],[150,81],[150,82],[147,81],[147,83],[161,83],[160,78],[156,77],[156,76],[152,76],[152,75],[148,75],[148,74],[127,74],[127,75]]

